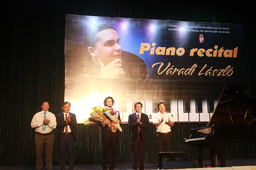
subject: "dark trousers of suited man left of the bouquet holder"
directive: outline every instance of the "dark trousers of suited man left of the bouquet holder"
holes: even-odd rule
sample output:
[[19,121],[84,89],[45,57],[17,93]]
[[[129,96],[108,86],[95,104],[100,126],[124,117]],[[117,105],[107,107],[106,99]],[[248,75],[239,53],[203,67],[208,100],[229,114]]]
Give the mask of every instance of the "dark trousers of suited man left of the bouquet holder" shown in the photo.
[[69,170],[75,167],[75,139],[72,134],[62,134],[59,141],[59,164],[61,170],[66,170],[66,154],[69,154]]

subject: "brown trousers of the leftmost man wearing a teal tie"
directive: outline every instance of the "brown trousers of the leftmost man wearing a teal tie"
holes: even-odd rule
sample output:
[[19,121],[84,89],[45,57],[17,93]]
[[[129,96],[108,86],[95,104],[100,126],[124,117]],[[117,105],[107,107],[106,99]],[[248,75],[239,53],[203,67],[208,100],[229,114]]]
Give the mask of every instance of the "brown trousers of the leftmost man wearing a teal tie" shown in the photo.
[[36,169],[42,170],[43,167],[43,152],[45,146],[45,155],[46,155],[46,170],[52,170],[52,149],[53,149],[53,134],[49,134],[46,136],[35,134],[35,151],[36,151]]

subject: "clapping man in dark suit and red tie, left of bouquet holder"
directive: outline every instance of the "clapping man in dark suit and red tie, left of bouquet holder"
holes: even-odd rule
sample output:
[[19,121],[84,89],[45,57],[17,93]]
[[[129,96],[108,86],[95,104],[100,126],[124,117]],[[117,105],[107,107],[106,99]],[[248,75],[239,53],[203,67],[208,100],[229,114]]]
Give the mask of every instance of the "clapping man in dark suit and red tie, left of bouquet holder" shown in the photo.
[[75,140],[77,126],[76,115],[69,113],[70,103],[63,102],[62,113],[57,114],[57,141],[59,143],[59,164],[61,170],[66,170],[66,150],[69,153],[69,170],[73,170],[75,167]]

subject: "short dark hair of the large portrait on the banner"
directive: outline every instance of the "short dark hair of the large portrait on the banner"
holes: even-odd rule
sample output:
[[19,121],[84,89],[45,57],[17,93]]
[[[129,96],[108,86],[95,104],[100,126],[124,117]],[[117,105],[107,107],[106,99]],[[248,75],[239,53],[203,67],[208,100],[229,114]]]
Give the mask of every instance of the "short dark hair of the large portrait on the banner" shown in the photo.
[[106,23],[98,24],[98,25],[90,25],[84,32],[84,45],[86,48],[88,47],[95,47],[97,42],[99,41],[99,38],[97,37],[97,33],[103,30],[107,29],[113,29],[115,28],[111,27],[110,25]]

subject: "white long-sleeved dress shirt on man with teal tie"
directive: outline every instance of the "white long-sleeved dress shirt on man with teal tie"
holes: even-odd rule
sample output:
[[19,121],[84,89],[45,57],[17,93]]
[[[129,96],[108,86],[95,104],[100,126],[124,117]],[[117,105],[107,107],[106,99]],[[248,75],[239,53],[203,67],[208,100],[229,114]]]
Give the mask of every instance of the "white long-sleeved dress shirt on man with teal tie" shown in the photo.
[[31,121],[31,128],[35,128],[35,132],[39,132],[42,134],[50,133],[53,129],[56,128],[57,122],[56,117],[53,113],[46,111],[46,119],[50,120],[50,123],[46,125],[46,129],[43,131],[43,122],[44,122],[44,111],[40,111],[36,113]]

